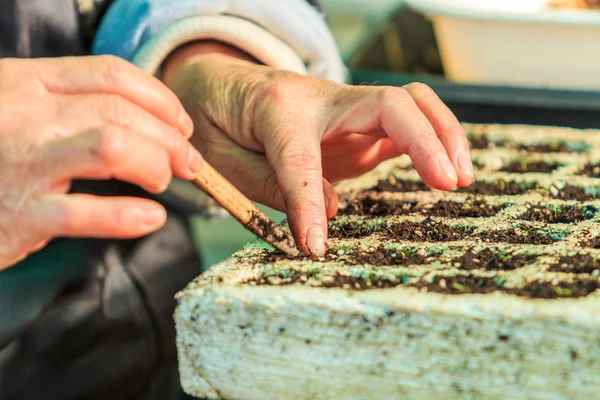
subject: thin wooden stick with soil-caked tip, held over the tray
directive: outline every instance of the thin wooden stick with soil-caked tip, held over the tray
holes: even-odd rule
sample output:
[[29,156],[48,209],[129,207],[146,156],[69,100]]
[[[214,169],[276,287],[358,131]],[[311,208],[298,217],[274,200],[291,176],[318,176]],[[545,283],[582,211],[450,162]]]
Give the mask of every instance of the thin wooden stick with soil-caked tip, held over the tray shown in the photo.
[[250,232],[289,256],[295,257],[299,254],[290,235],[271,221],[250,199],[208,163],[202,167],[202,171],[194,179],[194,184]]

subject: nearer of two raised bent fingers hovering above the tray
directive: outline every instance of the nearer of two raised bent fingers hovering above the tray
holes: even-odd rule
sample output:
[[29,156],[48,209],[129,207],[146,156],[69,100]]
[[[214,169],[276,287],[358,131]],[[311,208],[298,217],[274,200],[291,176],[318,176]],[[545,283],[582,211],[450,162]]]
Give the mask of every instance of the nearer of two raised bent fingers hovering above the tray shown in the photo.
[[[431,103],[431,98],[420,100]],[[403,88],[351,87],[341,86],[329,98],[329,109],[336,123],[328,124],[328,135],[340,132],[363,133],[381,137],[384,132],[398,151],[412,159],[416,170],[427,185],[432,188],[449,190],[459,183],[456,168],[450,161],[448,151],[458,149],[456,134],[445,130],[452,124],[432,122],[419,108],[411,94]],[[437,106],[437,103],[436,103]],[[437,113],[439,107],[429,106],[428,114]],[[445,109],[444,109],[445,110]],[[440,117],[441,118],[441,117]],[[443,132],[434,128],[442,127]],[[449,146],[447,149],[440,140]],[[452,153],[453,157],[456,154]],[[468,181],[461,176],[461,184]]]

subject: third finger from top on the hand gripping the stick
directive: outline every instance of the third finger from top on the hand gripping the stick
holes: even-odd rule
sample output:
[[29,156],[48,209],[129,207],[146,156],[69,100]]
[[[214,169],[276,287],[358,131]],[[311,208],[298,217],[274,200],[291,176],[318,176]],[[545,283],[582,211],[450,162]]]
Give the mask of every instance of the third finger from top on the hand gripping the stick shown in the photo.
[[50,181],[116,178],[149,192],[166,189],[171,181],[171,158],[176,156],[116,125],[50,142],[40,152],[36,173]]

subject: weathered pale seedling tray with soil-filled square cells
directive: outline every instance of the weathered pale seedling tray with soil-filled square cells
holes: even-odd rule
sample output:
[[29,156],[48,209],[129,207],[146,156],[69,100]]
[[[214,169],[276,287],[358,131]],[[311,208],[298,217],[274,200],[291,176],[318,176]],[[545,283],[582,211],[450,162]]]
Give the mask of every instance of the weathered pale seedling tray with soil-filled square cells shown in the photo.
[[322,259],[261,241],[178,294],[210,399],[589,399],[600,391],[600,134],[465,124],[476,182],[401,157],[338,187]]

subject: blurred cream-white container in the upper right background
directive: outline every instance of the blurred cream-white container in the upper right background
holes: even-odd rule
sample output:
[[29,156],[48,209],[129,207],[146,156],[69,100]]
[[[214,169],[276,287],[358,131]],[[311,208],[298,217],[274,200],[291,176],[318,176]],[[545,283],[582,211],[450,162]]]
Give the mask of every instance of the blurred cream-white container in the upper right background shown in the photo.
[[600,11],[546,0],[406,0],[433,22],[447,77],[600,90]]

